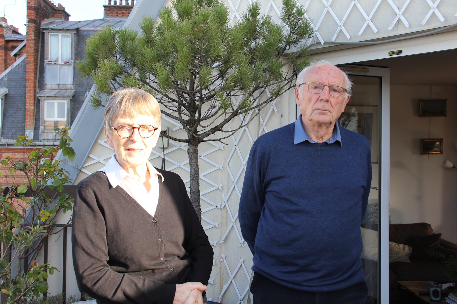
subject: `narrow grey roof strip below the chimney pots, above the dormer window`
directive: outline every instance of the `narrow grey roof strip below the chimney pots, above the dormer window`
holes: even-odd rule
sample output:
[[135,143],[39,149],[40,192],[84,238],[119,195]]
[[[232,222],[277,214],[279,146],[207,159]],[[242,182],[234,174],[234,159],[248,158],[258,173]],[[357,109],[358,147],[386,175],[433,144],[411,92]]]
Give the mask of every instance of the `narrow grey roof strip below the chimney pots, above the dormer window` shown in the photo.
[[49,30],[99,30],[105,24],[112,24],[117,29],[121,28],[127,19],[116,19],[116,18],[103,18],[103,19],[94,19],[86,21],[63,21],[63,20],[53,20],[48,22],[43,22],[41,28]]

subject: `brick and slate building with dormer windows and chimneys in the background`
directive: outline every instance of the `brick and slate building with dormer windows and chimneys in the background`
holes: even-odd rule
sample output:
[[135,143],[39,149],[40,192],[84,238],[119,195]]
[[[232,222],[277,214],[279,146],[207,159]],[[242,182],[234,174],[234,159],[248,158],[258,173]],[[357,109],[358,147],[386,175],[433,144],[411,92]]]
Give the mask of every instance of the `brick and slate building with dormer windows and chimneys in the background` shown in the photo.
[[[105,24],[120,28],[133,5],[134,0],[108,1],[104,18],[69,21],[62,5],[28,0],[26,35],[0,19],[0,158],[25,156],[13,144],[20,135],[38,146],[58,144],[53,129],[71,126],[93,84],[79,80],[74,68],[84,57],[85,39]],[[1,177],[0,185],[26,181],[19,172]]]

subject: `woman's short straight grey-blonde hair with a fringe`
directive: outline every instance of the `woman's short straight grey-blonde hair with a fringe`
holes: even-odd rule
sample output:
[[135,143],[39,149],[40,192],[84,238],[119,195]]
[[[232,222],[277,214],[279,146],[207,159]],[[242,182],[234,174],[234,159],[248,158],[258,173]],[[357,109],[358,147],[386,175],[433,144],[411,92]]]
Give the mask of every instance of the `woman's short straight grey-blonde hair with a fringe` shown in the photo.
[[114,92],[108,99],[103,113],[103,125],[111,132],[112,124],[118,118],[135,118],[150,115],[155,120],[154,127],[160,130],[160,107],[154,96],[138,88],[126,88]]

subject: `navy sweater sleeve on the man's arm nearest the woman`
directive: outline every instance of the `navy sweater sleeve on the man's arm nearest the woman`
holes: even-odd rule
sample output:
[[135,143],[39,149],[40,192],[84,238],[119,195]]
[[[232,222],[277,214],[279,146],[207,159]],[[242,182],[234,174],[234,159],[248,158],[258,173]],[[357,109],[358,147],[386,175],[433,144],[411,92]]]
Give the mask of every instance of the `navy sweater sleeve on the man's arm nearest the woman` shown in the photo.
[[262,172],[262,166],[266,160],[264,155],[260,154],[261,150],[257,140],[249,153],[238,209],[241,233],[253,255],[257,226],[265,200],[263,186],[265,172]]

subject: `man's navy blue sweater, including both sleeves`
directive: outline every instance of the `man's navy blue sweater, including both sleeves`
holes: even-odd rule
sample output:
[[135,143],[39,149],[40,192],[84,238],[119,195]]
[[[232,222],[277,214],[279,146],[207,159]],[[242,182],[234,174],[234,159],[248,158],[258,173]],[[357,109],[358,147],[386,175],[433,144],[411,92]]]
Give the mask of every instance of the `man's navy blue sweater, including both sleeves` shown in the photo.
[[365,280],[360,223],[372,179],[361,134],[340,127],[341,143],[294,143],[294,124],[252,146],[239,203],[253,270],[310,292]]

